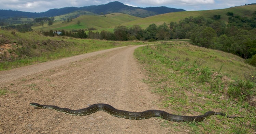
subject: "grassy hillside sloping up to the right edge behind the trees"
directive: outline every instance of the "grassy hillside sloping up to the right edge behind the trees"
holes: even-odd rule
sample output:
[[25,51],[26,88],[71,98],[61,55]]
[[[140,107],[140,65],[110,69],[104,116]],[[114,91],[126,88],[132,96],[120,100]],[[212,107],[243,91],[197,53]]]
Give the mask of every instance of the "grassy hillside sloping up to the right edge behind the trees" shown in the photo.
[[221,15],[221,19],[224,21],[228,21],[228,17],[226,15],[227,12],[233,12],[234,16],[244,16],[249,17],[256,11],[256,5],[246,5],[246,6],[237,6],[228,9],[218,9],[218,10],[205,10],[205,11],[184,11],[184,12],[174,12],[167,14],[160,14],[156,16],[146,17],[137,19],[134,21],[130,21],[123,25],[132,26],[132,25],[140,25],[142,28],[146,28],[148,25],[155,23],[156,25],[161,25],[163,23],[169,24],[170,22],[179,22],[180,20],[193,16],[203,16],[203,17],[212,17],[213,15]]

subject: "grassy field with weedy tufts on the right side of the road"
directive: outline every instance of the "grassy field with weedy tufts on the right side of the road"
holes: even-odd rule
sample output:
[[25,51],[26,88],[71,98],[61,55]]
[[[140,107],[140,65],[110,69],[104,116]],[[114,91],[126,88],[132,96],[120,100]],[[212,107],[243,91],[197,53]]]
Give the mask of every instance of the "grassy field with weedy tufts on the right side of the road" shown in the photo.
[[144,66],[144,82],[161,96],[160,107],[173,109],[176,115],[201,115],[212,110],[244,117],[163,121],[162,127],[195,134],[255,132],[256,69],[243,59],[180,41],[140,47],[134,55]]

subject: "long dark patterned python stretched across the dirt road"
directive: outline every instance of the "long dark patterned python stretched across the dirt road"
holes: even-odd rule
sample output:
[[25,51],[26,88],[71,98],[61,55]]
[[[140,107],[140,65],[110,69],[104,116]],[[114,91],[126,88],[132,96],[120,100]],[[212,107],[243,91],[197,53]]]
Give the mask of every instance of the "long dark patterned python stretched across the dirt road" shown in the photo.
[[151,117],[161,117],[163,119],[166,119],[169,121],[176,121],[176,122],[186,122],[186,121],[200,122],[200,121],[204,121],[206,118],[212,115],[221,115],[227,118],[243,118],[239,116],[227,116],[224,113],[218,113],[214,111],[208,111],[204,115],[199,115],[199,116],[172,115],[162,110],[146,110],[143,112],[130,112],[130,111],[116,109],[109,104],[93,104],[87,108],[78,109],[78,110],[60,108],[58,106],[53,106],[53,105],[40,105],[38,103],[30,103],[30,105],[34,106],[35,108],[53,109],[58,112],[66,113],[74,116],[85,116],[85,115],[95,113],[97,111],[105,111],[106,113],[112,116],[131,119],[131,120],[148,119]]

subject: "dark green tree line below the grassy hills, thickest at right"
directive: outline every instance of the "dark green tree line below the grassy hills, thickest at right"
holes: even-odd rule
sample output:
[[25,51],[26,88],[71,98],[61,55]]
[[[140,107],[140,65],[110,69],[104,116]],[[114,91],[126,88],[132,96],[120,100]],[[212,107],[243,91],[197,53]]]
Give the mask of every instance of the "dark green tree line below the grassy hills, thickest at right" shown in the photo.
[[[203,16],[187,17],[179,23],[171,22],[149,25],[142,29],[139,25],[131,27],[118,26],[113,32],[103,30],[101,32],[86,30],[50,30],[42,31],[46,36],[71,36],[81,39],[100,39],[114,41],[156,41],[169,39],[190,39],[197,46],[222,50],[247,59],[249,63],[256,66],[256,11],[252,17],[241,17],[232,12],[226,13],[228,24],[221,20],[221,15],[213,15],[210,18]],[[43,18],[42,18],[43,19]],[[11,26],[19,31],[31,31],[27,24]]]

